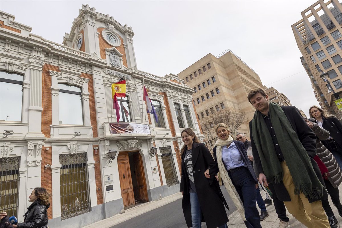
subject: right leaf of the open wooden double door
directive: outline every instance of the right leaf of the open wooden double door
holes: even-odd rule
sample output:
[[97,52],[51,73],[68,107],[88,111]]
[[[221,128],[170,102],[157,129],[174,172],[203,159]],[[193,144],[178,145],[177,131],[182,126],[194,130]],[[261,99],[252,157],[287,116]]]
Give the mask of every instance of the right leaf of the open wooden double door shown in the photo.
[[133,155],[134,165],[135,165],[135,175],[138,182],[138,195],[140,202],[147,202],[147,187],[146,187],[146,180],[145,180],[145,172],[143,166],[143,160],[139,152],[136,152]]

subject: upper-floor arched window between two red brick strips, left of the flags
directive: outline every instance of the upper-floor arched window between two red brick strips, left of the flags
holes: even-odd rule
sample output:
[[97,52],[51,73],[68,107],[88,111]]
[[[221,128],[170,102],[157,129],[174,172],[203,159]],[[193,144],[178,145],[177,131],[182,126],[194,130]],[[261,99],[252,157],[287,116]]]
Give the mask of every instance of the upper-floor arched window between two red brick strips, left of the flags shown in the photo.
[[60,124],[83,125],[81,88],[67,84],[58,84],[58,87]]

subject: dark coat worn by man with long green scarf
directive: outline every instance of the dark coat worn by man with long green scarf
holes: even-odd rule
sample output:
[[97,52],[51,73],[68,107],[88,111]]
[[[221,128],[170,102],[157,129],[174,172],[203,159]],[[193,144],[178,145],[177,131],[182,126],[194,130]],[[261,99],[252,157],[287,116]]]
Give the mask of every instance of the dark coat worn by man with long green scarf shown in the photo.
[[[318,177],[321,184],[323,186],[325,186],[323,176],[319,170],[319,167],[318,167],[316,161],[314,160],[314,157],[317,155],[316,154],[316,135],[315,135],[315,133],[306,124],[304,118],[302,117],[302,115],[300,114],[299,110],[296,107],[294,107],[294,106],[280,106],[280,107],[284,111],[285,116],[287,117],[287,119],[289,120],[293,130],[297,134],[299,141],[302,143],[307,154],[309,155],[309,158],[310,158],[311,164],[314,168],[314,171],[316,173],[316,176]],[[258,112],[258,110],[257,110],[257,112]],[[249,131],[250,131],[250,137],[251,137],[251,142],[252,142],[254,166],[256,166],[256,170],[260,174],[260,173],[263,173],[264,171],[262,169],[262,165],[261,165],[261,161],[260,161],[260,157],[259,157],[257,147],[255,146],[255,144],[253,142],[252,121],[253,120],[251,120],[249,122],[249,128],[250,128]],[[277,137],[281,137],[281,136],[277,135]],[[303,167],[303,169],[305,169],[305,167]],[[291,170],[290,170],[290,172],[291,172]],[[266,178],[267,178],[267,176],[266,176]],[[272,184],[273,184],[273,187],[276,191],[277,197],[280,201],[291,201],[289,193],[287,192],[282,181],[279,184],[276,184],[276,183],[272,183]],[[312,203],[312,202],[315,202],[317,200],[326,200],[326,199],[328,199],[328,193],[325,190],[325,188],[323,188],[323,196],[321,198],[319,198],[319,199],[308,198],[308,201],[310,203]]]

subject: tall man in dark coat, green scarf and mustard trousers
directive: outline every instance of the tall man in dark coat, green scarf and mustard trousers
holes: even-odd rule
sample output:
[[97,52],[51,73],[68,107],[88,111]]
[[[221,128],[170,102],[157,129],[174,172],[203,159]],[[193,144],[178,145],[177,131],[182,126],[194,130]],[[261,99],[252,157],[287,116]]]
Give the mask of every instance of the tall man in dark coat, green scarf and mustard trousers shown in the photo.
[[278,199],[305,226],[330,228],[321,202],[328,196],[313,159],[315,134],[296,107],[269,102],[263,89],[247,98],[257,109],[249,125],[259,182],[272,183]]

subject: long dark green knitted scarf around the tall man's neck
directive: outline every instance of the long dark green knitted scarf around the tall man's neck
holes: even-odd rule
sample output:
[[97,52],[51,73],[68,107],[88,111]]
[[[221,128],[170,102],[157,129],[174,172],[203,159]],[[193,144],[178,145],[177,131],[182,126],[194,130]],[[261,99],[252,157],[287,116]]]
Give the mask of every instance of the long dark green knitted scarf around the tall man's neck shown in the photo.
[[[281,152],[293,178],[294,194],[303,192],[306,197],[319,199],[323,196],[323,186],[312,167],[310,158],[293,130],[284,111],[274,102],[269,102],[269,117],[277,136]],[[260,111],[255,111],[252,121],[252,135],[258,149],[264,174],[270,183],[280,183],[283,172],[272,136]]]

